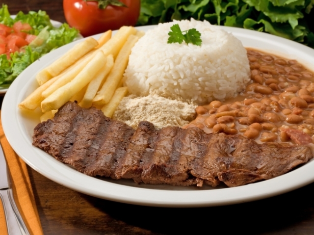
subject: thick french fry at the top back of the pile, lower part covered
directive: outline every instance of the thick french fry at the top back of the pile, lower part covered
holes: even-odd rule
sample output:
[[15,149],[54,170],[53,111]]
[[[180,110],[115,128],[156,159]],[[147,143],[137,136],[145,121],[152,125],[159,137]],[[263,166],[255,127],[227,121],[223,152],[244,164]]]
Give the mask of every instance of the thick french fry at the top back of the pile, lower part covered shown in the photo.
[[102,50],[106,56],[113,54],[113,58],[115,59],[128,37],[134,35],[136,32],[137,30],[132,26],[122,26],[100,50]]

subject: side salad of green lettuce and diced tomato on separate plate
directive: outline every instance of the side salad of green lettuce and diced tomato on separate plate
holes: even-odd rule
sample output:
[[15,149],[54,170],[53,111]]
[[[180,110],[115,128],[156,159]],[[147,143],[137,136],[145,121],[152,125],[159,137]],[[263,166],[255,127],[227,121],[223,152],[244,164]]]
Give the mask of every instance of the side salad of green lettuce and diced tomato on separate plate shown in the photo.
[[8,7],[0,8],[0,89],[44,54],[72,42],[78,30],[67,24],[52,26],[45,11],[19,12],[11,17]]

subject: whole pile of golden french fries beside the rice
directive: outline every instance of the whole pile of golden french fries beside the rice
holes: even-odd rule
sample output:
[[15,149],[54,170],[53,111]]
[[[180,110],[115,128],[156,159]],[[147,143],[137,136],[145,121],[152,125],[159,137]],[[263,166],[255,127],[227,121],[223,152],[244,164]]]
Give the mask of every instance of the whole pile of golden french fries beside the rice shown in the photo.
[[36,75],[39,87],[19,108],[40,108],[40,121],[54,113],[68,101],[82,107],[95,106],[112,117],[128,88],[123,87],[123,74],[131,49],[144,32],[123,26],[114,36],[106,31],[96,40],[86,38]]

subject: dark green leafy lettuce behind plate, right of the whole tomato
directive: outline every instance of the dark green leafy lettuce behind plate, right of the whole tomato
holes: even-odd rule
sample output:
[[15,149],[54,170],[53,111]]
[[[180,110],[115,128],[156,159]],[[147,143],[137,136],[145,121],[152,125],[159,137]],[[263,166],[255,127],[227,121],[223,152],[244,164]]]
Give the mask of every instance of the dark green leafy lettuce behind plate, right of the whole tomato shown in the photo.
[[141,0],[138,25],[194,18],[268,32],[314,48],[314,0]]

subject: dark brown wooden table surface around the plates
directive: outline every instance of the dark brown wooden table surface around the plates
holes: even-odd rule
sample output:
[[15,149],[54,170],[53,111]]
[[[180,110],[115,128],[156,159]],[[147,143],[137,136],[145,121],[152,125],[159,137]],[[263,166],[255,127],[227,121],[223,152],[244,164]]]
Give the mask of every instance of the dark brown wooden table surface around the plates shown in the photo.
[[[62,0],[1,0],[11,14],[45,10],[65,22]],[[314,183],[238,205],[169,209],[134,206],[78,193],[28,167],[45,235],[314,235]]]

